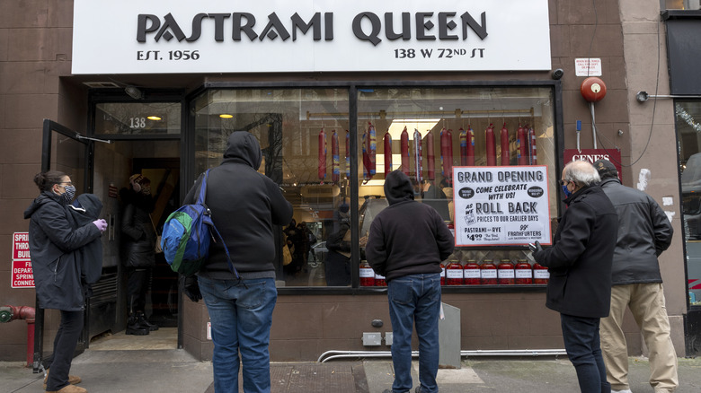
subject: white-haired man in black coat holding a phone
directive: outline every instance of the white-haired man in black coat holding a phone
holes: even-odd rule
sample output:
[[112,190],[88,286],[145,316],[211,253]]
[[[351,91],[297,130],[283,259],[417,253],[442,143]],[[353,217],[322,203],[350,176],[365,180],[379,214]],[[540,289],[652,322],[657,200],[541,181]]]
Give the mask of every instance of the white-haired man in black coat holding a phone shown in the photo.
[[[608,316],[611,262],[618,231],[616,209],[589,162],[565,165],[560,181],[567,208],[553,247],[531,246],[550,272],[546,307],[560,313],[564,348],[582,392],[610,392],[599,343],[599,320]],[[565,291],[566,287],[566,291]]]

